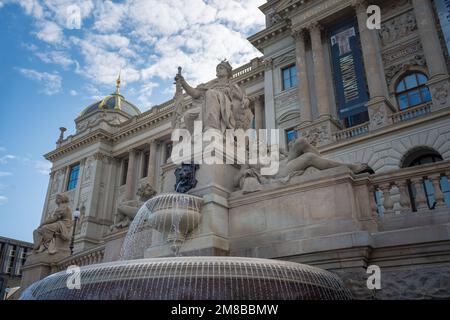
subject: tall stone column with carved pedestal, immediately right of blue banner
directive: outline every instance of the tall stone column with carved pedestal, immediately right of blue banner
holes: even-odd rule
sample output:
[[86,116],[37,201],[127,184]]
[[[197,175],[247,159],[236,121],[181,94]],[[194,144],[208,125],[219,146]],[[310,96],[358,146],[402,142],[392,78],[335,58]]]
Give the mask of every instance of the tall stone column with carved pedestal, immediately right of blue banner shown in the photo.
[[367,28],[367,1],[355,0],[353,5],[358,19],[364,69],[366,71],[370,94],[370,101],[367,103],[370,116],[370,129],[376,130],[392,123],[390,114],[395,112],[395,109],[386,97],[386,79],[377,30]]

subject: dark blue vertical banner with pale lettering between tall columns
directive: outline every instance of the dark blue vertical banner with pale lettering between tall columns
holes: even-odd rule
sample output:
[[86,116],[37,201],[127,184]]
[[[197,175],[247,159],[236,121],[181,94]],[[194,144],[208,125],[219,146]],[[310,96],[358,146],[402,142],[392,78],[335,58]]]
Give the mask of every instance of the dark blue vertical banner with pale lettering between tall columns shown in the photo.
[[367,110],[364,76],[356,21],[329,30],[339,117],[345,119]]

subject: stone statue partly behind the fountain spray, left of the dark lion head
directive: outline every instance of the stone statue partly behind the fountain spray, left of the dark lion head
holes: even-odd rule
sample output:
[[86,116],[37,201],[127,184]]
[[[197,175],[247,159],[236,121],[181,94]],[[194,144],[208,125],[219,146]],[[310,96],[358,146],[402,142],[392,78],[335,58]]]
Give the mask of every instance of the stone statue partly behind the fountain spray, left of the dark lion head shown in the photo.
[[116,223],[111,226],[111,230],[127,227],[133,218],[136,216],[138,210],[144,203],[156,195],[155,189],[148,182],[143,183],[136,192],[139,197],[137,200],[128,200],[119,204],[117,207]]

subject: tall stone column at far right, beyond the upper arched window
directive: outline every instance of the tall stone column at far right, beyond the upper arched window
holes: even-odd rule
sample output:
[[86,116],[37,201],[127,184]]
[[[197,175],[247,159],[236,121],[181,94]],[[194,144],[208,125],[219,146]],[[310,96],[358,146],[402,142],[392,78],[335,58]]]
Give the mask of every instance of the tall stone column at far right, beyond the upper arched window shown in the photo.
[[450,105],[449,76],[436,29],[433,5],[430,0],[413,0],[412,3],[430,75],[428,87],[433,96],[433,108],[448,107]]

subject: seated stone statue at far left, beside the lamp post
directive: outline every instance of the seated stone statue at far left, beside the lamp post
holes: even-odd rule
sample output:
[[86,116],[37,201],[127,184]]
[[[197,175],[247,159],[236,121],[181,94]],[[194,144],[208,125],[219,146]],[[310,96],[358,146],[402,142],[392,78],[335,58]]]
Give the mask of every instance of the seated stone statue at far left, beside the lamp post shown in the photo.
[[[69,249],[69,241],[72,229],[72,211],[69,207],[69,198],[66,195],[56,195],[57,208],[42,224],[33,232],[34,252],[45,250],[49,254],[55,254],[61,246]],[[67,246],[67,248],[66,248]]]

